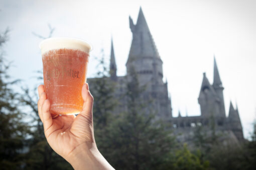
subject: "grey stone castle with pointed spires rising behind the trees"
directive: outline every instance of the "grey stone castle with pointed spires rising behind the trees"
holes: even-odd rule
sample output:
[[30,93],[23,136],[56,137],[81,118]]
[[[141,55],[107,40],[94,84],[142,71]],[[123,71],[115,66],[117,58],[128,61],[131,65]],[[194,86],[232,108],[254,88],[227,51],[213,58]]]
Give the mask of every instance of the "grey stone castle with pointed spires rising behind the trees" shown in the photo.
[[[117,84],[115,96],[118,97],[123,94],[127,76],[129,76],[129,72],[132,69],[135,69],[140,85],[146,85],[143,97],[154,98],[153,107],[156,110],[157,117],[171,124],[175,133],[181,134],[178,137],[179,140],[189,140],[194,127],[203,126],[204,129],[209,129],[210,124],[213,122],[214,128],[217,131],[226,132],[226,134],[232,136],[232,139],[242,141],[243,131],[237,106],[234,109],[230,102],[228,116],[225,113],[224,87],[222,86],[215,57],[213,84],[210,84],[206,74],[203,73],[202,85],[198,97],[201,115],[181,116],[179,112],[178,117],[173,117],[171,98],[168,96],[168,84],[167,81],[163,81],[163,61],[158,53],[142,8],[140,8],[136,24],[134,24],[131,17],[129,17],[129,20],[133,40],[126,62],[127,75],[116,75],[117,66],[115,63],[113,43],[111,42],[110,80],[115,81]],[[121,104],[115,112],[127,109],[125,107],[125,98],[120,98],[119,101]]]

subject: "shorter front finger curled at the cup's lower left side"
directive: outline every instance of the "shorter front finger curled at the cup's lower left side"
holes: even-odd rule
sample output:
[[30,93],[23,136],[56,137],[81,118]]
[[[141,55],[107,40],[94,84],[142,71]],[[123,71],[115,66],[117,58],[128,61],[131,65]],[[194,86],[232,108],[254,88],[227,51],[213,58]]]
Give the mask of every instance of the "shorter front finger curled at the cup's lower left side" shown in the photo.
[[42,118],[44,124],[44,130],[46,131],[53,124],[52,115],[50,113],[50,101],[45,99],[42,105]]

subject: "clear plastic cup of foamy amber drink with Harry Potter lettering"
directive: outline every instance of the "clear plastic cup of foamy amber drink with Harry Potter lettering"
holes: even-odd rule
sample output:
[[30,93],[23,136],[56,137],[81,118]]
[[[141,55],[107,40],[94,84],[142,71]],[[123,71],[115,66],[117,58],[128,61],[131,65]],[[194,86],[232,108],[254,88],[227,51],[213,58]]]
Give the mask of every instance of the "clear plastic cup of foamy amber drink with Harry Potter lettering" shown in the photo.
[[90,44],[66,37],[40,43],[44,86],[51,114],[77,114],[82,110],[81,90],[86,82]]

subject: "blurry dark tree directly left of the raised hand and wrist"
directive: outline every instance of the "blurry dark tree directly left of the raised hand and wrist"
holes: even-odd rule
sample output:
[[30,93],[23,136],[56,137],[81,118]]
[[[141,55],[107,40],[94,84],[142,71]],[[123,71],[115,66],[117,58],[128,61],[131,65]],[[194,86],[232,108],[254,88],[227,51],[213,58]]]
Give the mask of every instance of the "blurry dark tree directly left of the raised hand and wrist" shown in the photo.
[[[45,39],[51,37],[55,28],[49,27],[49,35],[42,36],[35,32],[32,32],[35,36]],[[34,89],[28,87],[22,87],[23,93],[20,95],[20,102],[26,110],[29,112],[29,116],[32,119],[31,137],[28,140],[29,151],[26,154],[25,169],[73,169],[72,166],[60,155],[58,155],[48,144],[45,134],[43,123],[38,115],[37,101],[37,87],[43,83],[42,70],[37,71],[37,79],[39,82],[35,85]]]

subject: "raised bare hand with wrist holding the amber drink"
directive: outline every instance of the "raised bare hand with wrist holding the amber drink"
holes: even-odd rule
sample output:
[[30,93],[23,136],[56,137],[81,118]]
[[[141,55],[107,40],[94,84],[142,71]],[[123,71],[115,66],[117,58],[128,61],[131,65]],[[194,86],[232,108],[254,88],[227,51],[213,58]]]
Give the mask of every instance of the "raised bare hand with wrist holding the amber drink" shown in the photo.
[[38,87],[38,112],[46,139],[75,169],[113,169],[97,149],[92,121],[93,97],[88,84],[82,87],[83,110],[77,115],[52,118],[44,85]]

